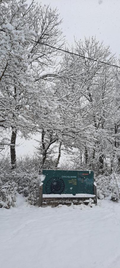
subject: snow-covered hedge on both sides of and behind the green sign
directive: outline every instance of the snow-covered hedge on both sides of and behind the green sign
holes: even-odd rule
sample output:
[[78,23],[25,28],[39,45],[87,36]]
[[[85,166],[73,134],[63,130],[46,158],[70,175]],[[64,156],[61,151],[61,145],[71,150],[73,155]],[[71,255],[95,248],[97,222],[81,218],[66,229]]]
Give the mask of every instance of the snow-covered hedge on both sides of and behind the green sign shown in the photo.
[[[54,169],[53,166],[45,166]],[[62,165],[59,169],[73,169],[71,166]],[[103,199],[110,197],[113,201],[120,199],[120,174],[95,174],[97,183],[97,197]],[[20,158],[17,168],[11,173],[9,157],[0,160],[0,207],[10,208],[15,206],[16,192],[23,194],[31,205],[38,205],[39,186],[39,159],[35,157]]]

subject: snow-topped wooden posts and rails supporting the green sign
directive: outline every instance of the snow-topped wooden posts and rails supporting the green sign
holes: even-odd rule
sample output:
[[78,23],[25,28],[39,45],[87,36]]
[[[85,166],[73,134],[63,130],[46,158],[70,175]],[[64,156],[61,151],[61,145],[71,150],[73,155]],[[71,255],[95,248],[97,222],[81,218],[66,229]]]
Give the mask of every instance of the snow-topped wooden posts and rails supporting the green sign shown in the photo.
[[73,205],[85,204],[88,205],[89,202],[97,205],[97,191],[96,184],[94,183],[94,194],[42,194],[43,186],[40,186],[39,193],[39,206],[46,207],[56,207],[58,205],[68,205],[71,203]]

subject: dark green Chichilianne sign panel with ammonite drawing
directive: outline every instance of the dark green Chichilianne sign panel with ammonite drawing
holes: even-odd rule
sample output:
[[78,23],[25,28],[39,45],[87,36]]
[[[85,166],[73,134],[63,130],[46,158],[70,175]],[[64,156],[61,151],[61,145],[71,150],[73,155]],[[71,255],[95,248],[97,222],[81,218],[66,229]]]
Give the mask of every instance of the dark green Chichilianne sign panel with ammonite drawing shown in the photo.
[[43,169],[43,194],[94,194],[94,172]]

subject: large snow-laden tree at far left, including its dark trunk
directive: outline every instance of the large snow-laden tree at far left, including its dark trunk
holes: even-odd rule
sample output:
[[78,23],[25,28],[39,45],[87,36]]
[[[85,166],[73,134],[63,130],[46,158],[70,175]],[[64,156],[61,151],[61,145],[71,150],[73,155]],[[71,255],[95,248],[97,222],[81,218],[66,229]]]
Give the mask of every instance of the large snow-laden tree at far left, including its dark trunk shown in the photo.
[[17,131],[27,137],[34,127],[30,112],[34,95],[40,99],[43,91],[39,81],[56,75],[46,73],[55,67],[57,55],[46,44],[62,45],[60,23],[57,9],[34,0],[30,5],[26,0],[0,3],[0,123],[1,128],[11,130],[12,169],[16,166]]

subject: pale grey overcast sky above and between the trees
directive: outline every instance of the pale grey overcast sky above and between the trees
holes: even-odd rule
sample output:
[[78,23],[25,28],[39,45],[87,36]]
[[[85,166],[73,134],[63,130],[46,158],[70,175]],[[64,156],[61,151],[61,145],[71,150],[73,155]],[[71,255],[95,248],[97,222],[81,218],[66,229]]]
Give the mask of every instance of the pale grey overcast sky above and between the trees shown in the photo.
[[[28,0],[31,2],[30,0]],[[95,36],[105,45],[110,45],[111,51],[120,54],[120,0],[43,0],[42,4],[58,7],[60,17],[63,18],[61,27],[69,44],[84,36]],[[35,141],[20,140],[20,147],[16,148],[17,155],[31,152],[33,154]],[[39,138],[39,137],[38,137]],[[37,139],[38,139],[37,138]]]

